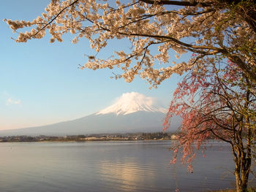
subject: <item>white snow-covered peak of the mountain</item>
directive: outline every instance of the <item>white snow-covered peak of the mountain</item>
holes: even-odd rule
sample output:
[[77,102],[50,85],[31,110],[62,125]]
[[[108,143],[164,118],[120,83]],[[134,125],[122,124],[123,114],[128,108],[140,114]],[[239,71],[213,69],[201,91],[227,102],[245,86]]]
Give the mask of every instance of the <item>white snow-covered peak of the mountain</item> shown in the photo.
[[107,107],[96,115],[115,113],[116,115],[127,115],[133,112],[167,112],[164,108],[158,107],[156,99],[144,96],[141,93],[131,92],[123,93],[121,97],[116,99],[116,102],[110,107]]

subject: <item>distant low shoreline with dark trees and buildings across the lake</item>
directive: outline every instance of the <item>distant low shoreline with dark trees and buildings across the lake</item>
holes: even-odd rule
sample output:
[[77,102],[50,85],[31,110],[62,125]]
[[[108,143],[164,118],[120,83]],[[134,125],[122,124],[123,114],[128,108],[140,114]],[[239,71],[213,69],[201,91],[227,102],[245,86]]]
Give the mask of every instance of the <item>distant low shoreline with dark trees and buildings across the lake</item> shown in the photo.
[[136,133],[136,134],[89,134],[89,135],[67,135],[63,137],[50,137],[40,135],[32,136],[10,136],[0,137],[0,142],[86,142],[86,141],[131,141],[131,140],[169,140],[171,133]]

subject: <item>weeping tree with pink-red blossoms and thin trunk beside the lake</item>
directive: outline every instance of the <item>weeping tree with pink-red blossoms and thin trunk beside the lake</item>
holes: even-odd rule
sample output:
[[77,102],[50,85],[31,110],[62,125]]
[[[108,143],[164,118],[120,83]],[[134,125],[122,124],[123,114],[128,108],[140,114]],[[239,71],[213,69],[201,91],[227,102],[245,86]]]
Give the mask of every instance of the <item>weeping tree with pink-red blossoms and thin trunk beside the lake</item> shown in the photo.
[[236,164],[236,189],[246,191],[255,153],[256,86],[230,61],[222,64],[208,58],[205,69],[194,67],[178,84],[165,119],[165,129],[173,115],[183,119],[171,163],[181,151],[181,161],[192,170],[196,151],[204,143],[227,142]]

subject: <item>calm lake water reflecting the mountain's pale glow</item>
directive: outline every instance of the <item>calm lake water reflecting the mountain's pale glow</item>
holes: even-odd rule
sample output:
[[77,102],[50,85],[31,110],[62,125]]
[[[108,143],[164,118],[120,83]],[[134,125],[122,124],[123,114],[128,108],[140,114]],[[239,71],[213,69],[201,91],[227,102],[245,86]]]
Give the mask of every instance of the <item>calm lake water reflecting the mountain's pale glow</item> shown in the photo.
[[233,188],[229,147],[213,143],[194,172],[170,165],[170,141],[1,143],[0,191],[209,191]]

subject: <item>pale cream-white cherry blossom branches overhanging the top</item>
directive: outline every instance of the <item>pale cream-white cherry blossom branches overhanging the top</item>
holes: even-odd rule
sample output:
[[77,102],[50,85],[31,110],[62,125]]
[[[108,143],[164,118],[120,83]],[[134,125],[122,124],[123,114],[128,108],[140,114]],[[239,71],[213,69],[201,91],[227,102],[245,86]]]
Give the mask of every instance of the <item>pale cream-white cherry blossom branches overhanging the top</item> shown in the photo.
[[[81,69],[120,68],[116,78],[131,82],[135,75],[157,87],[171,74],[183,74],[195,64],[204,68],[208,55],[228,58],[250,80],[256,81],[256,4],[244,1],[170,0],[52,0],[45,12],[31,21],[5,20],[16,42],[45,37],[61,42],[63,34],[90,41],[98,53],[115,39],[128,39],[129,51],[120,50],[108,58],[90,55]],[[25,28],[19,30],[20,28]],[[30,29],[26,31],[26,29]],[[158,50],[156,53],[155,50]],[[196,53],[188,62],[171,62],[176,57]]]

